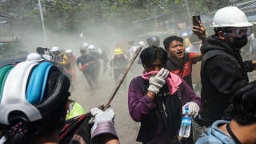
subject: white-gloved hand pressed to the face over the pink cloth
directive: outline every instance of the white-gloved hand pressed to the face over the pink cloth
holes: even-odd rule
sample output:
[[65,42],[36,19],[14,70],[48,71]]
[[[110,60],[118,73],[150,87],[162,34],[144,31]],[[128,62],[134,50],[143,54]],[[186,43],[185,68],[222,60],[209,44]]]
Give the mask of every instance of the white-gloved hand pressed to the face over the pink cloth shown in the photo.
[[151,75],[150,86],[147,90],[154,92],[155,94],[158,94],[159,90],[162,88],[162,86],[166,83],[166,78],[169,74],[169,71],[162,68],[158,74]]

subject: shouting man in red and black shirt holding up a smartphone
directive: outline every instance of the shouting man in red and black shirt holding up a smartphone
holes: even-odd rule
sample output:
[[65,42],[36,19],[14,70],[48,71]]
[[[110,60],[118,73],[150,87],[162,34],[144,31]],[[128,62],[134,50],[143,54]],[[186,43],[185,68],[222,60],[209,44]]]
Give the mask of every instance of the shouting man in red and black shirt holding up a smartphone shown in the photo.
[[[205,42],[206,29],[202,26],[202,23],[198,21],[200,26],[192,26],[192,32],[198,36],[198,41]],[[174,74],[178,74],[193,90],[192,85],[192,65],[202,61],[202,53],[185,53],[185,46],[183,45],[183,38],[178,36],[170,36],[163,41],[166,52],[169,54],[169,58],[166,63],[166,69]],[[203,128],[198,126],[193,121],[194,141],[202,134]]]

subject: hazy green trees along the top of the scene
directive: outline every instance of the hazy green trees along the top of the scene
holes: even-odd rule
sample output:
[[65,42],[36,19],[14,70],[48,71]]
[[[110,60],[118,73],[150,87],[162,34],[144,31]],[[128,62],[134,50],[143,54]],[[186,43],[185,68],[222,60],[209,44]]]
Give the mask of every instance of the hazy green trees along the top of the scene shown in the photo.
[[[246,1],[246,0],[240,0]],[[229,0],[186,0],[190,15],[206,14],[229,6]],[[41,0],[46,30],[55,34],[98,30],[109,24],[118,30],[130,30],[131,22],[172,11],[184,10],[185,0]],[[19,31],[33,33],[42,29],[38,0],[8,0],[1,3],[1,13],[17,14]],[[85,31],[86,30],[86,31]]]

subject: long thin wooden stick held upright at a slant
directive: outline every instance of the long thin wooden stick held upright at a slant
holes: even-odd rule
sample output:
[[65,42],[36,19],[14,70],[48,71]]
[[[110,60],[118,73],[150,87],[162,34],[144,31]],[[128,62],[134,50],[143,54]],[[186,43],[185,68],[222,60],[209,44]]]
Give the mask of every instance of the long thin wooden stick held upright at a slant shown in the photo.
[[105,111],[109,106],[110,106],[110,103],[112,102],[112,100],[114,99],[114,95],[117,94],[118,92],[118,89],[119,87],[121,86],[123,80],[126,78],[126,75],[128,74],[129,70],[130,70],[130,67],[133,65],[135,59],[138,57],[138,54],[139,52],[142,50],[142,47],[139,47],[135,54],[134,54],[134,57],[130,60],[128,66],[126,67],[126,70],[124,71],[124,73],[122,74],[122,77],[120,78],[119,82],[118,82],[118,85],[114,88],[112,94],[110,95],[110,98],[109,98],[109,102],[106,103],[103,111]]

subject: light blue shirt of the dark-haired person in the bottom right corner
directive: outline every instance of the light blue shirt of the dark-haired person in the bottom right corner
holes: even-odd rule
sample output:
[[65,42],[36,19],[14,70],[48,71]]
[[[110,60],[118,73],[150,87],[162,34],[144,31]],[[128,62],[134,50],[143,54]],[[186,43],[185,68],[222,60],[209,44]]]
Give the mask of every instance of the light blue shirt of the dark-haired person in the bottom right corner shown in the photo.
[[228,144],[235,144],[234,140],[230,138],[228,135],[224,134],[222,130],[219,130],[218,126],[222,126],[226,123],[229,123],[227,121],[218,120],[214,122],[214,124],[198,138],[198,141],[196,144],[220,144],[220,143],[228,143]]

